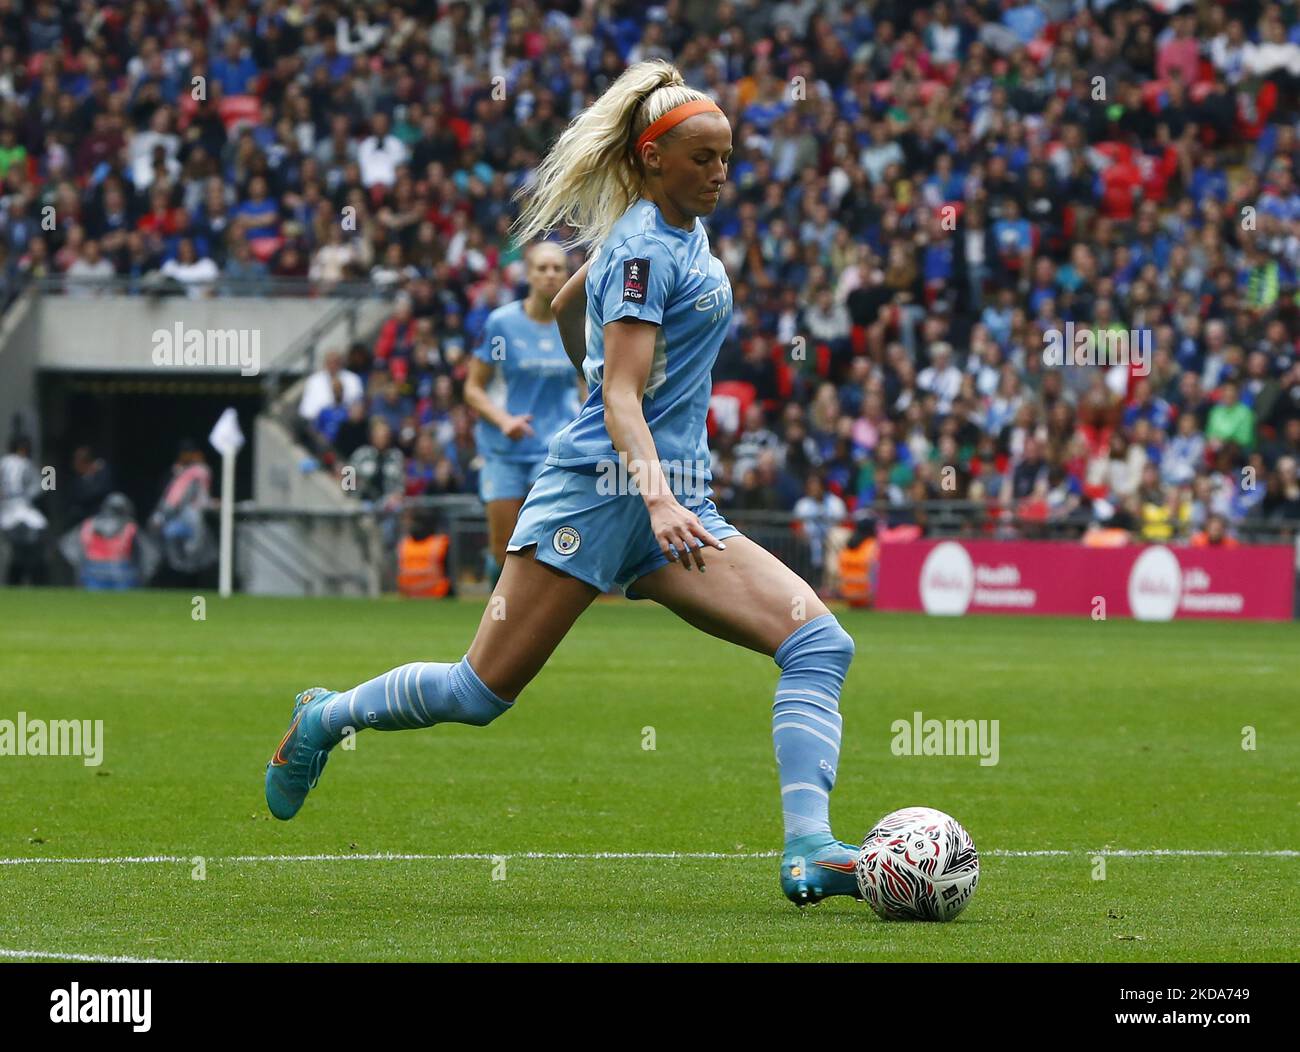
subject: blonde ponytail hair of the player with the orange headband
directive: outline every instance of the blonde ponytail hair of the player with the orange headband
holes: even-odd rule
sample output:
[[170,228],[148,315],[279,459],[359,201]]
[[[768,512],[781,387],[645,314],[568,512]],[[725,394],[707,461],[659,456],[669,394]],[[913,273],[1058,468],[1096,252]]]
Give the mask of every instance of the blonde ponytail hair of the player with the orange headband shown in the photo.
[[532,186],[516,194],[526,196],[514,224],[516,239],[524,243],[566,224],[577,231],[566,247],[601,244],[641,196],[645,174],[632,155],[637,137],[673,107],[707,98],[662,59],[628,66],[573,118],[537,166]]

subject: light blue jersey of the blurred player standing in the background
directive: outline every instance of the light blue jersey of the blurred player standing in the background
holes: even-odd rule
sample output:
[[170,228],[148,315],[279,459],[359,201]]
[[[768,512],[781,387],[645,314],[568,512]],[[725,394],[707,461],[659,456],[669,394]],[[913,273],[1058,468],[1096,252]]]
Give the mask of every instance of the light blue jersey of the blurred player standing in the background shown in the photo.
[[489,460],[541,460],[551,437],[577,414],[577,376],[554,321],[533,321],[523,300],[488,315],[474,358],[494,367],[488,397],[512,416],[532,414],[533,436],[507,438],[486,420],[476,425],[478,451]]

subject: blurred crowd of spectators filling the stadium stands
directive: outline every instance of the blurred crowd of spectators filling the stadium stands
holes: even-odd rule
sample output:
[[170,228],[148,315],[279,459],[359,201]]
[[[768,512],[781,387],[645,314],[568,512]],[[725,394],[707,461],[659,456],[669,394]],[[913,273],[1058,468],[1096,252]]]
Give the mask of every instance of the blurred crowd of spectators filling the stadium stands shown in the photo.
[[[473,492],[462,388],[488,313],[524,293],[514,195],[628,62],[663,57],[734,129],[707,220],[734,294],[710,419],[724,510],[814,533],[867,507],[916,521],[916,501],[1145,540],[1284,525],[1297,17],[0,0],[0,281],[378,287],[393,315],[311,378],[304,441],[376,499]],[[1144,360],[1046,364],[1067,324],[1132,334]]]

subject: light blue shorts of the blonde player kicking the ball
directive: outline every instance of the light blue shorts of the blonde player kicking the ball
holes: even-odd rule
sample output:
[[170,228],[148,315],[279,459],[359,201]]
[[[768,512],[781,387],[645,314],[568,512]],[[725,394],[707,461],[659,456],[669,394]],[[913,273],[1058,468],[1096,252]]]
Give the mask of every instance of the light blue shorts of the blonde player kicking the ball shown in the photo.
[[[590,585],[627,589],[668,564],[638,493],[603,493],[594,472],[547,467],[524,501],[507,551],[537,545],[537,558]],[[679,498],[719,541],[740,533],[703,494]],[[708,558],[707,555],[705,557]],[[644,598],[628,592],[628,598]]]

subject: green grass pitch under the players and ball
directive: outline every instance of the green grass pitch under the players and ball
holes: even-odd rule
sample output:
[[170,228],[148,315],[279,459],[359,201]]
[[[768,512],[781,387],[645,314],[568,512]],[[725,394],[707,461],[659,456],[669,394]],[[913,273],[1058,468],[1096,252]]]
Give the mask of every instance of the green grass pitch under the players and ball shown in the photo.
[[[481,609],[0,592],[0,719],[104,720],[99,767],[0,757],[0,957],[1294,960],[1295,624],[842,612],[837,835],[923,804],[982,853],[916,925],[785,901],[777,670],[650,603],[593,606],[491,727],[360,735],[269,817],[296,690],[459,658]],[[1000,762],[894,756],[914,711],[1000,720]],[[389,853],[425,857],[354,857]]]

